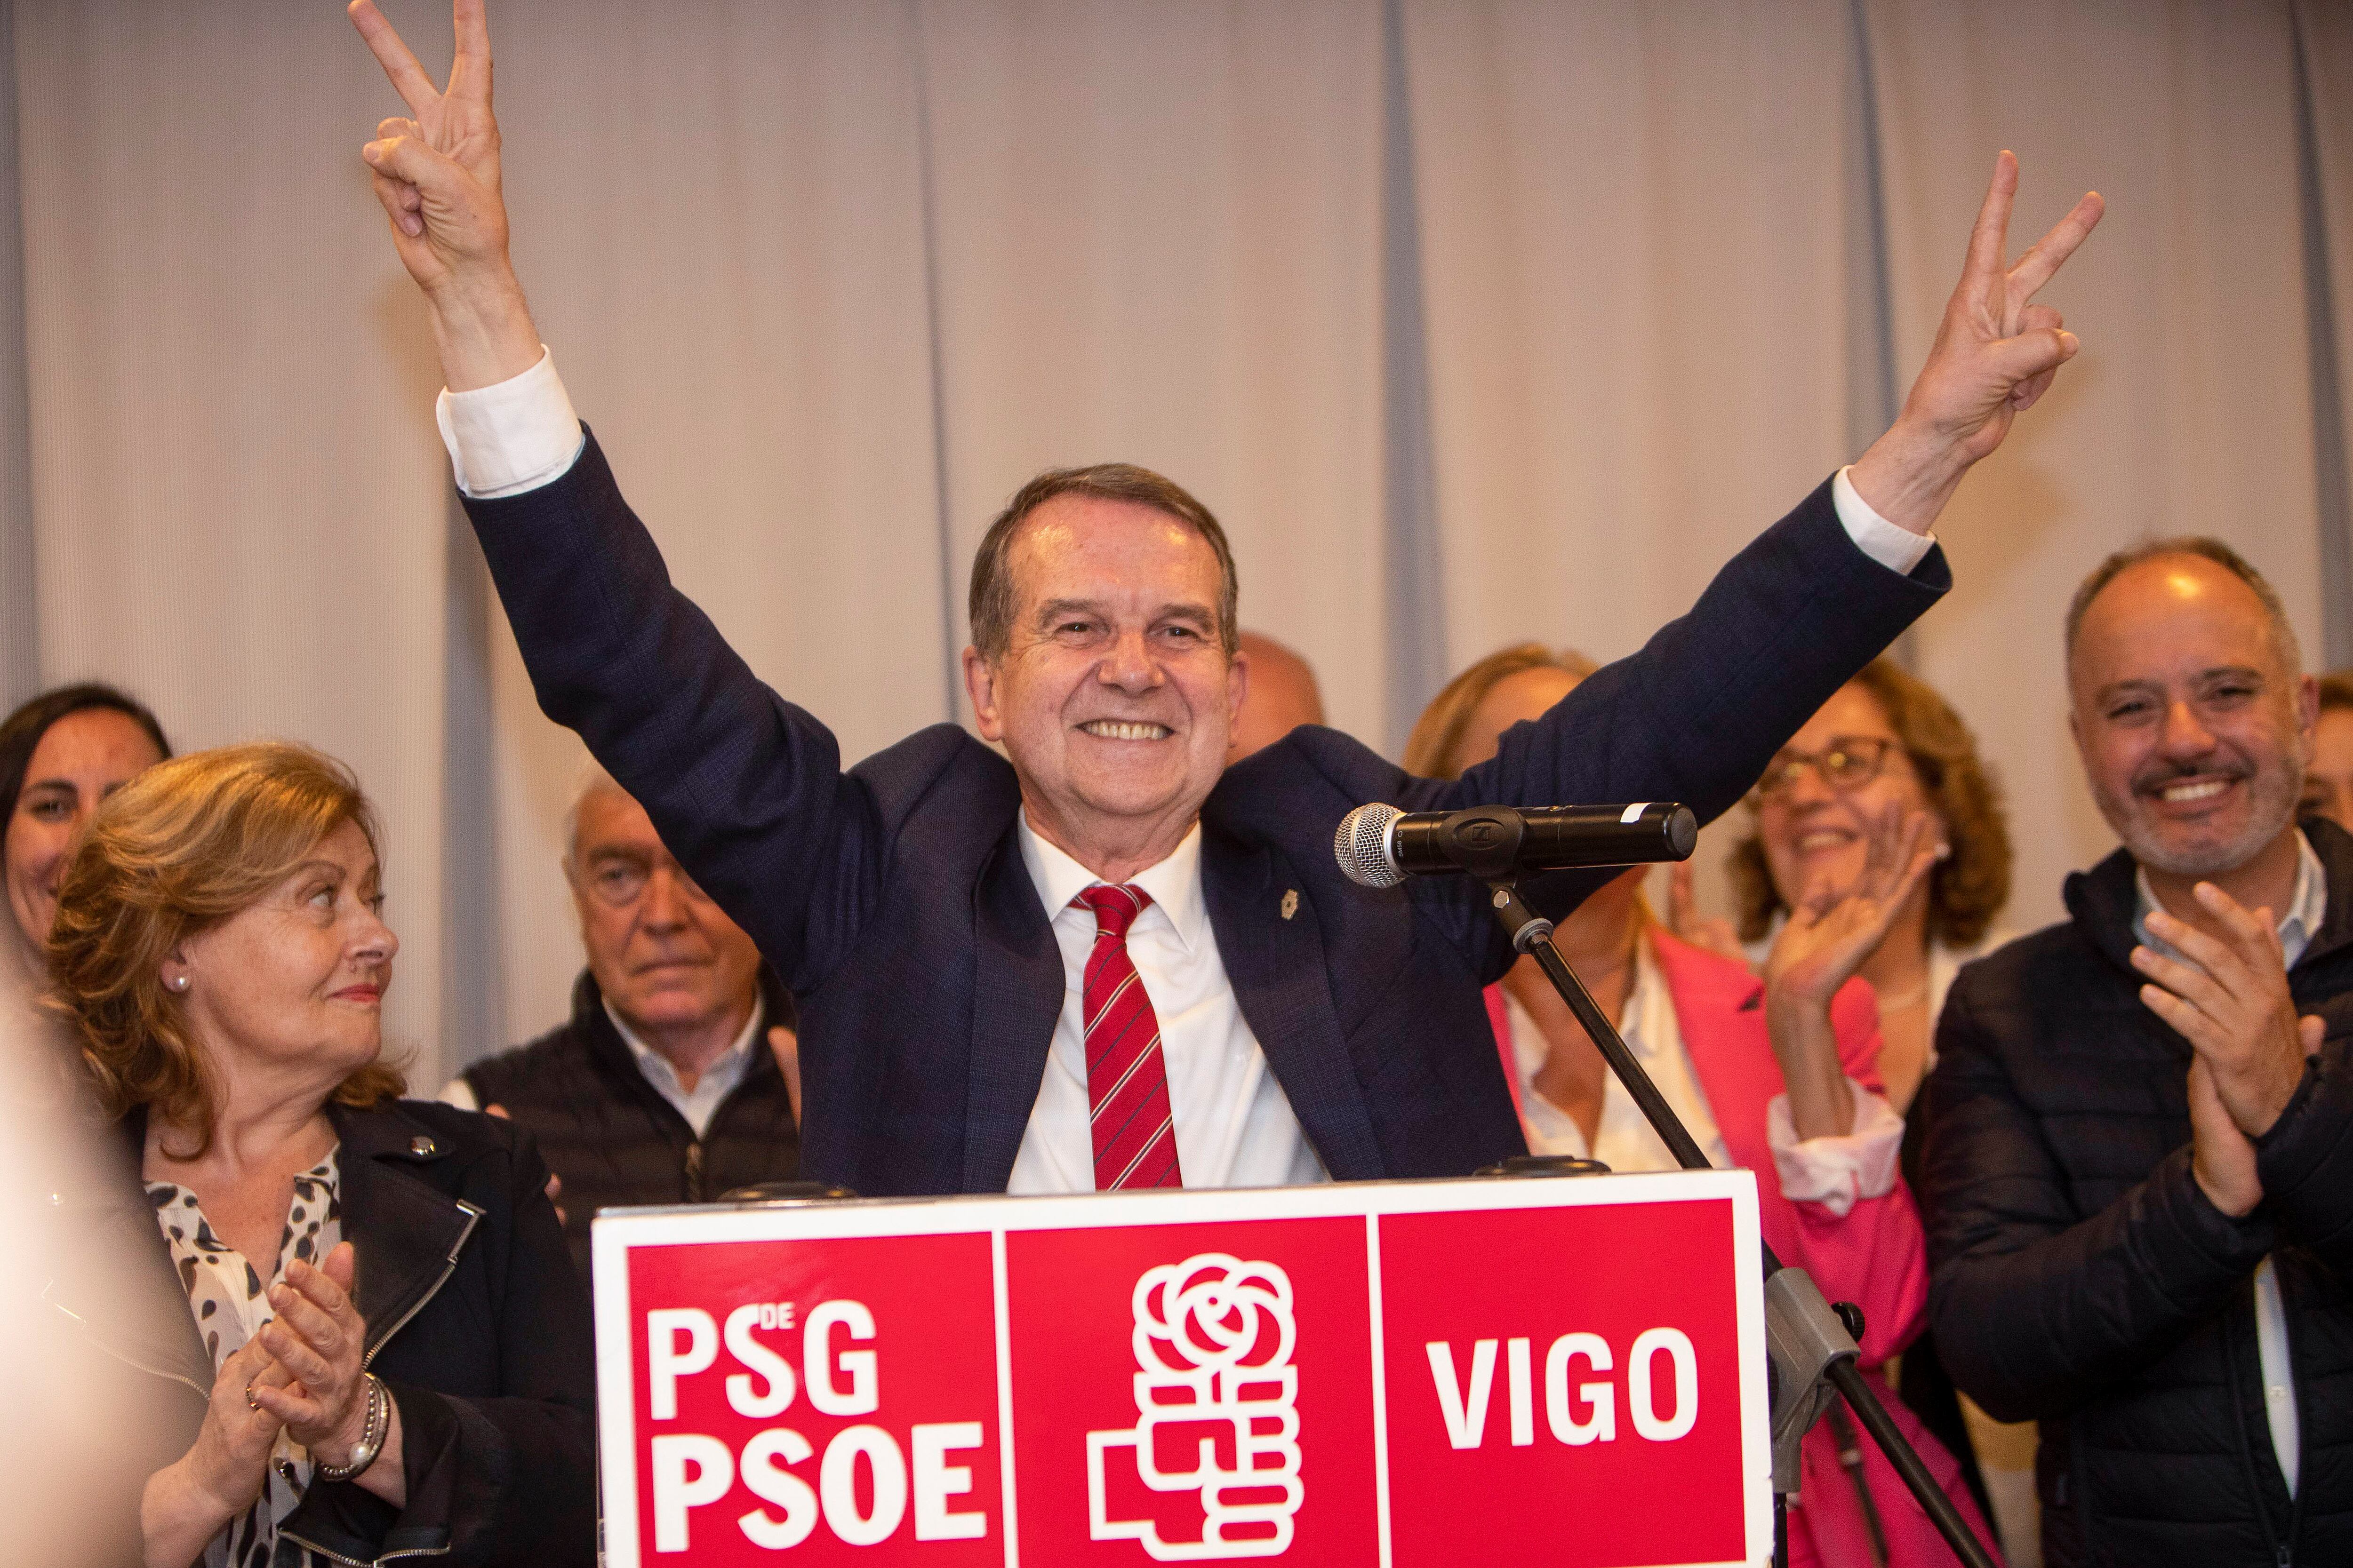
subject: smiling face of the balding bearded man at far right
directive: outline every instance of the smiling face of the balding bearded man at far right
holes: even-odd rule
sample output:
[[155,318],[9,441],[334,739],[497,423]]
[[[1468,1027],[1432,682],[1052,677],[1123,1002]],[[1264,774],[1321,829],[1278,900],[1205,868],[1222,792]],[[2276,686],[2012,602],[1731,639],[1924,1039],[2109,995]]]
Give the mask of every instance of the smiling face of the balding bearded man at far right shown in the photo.
[[2120,571],[2085,609],[2068,686],[2092,797],[2144,865],[2219,877],[2292,825],[2313,682],[2217,562],[2160,555]]

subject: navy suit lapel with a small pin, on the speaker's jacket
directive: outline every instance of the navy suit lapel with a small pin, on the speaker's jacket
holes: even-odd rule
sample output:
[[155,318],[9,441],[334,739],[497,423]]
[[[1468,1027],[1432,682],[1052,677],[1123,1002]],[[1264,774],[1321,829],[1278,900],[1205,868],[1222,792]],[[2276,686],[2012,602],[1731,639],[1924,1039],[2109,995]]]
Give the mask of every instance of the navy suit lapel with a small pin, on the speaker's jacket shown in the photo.
[[[1233,997],[1325,1171],[1337,1180],[1386,1175],[1365,1088],[1339,1032],[1308,882],[1278,851],[1245,846],[1207,823],[1200,882]],[[1292,891],[1299,898],[1285,919]]]

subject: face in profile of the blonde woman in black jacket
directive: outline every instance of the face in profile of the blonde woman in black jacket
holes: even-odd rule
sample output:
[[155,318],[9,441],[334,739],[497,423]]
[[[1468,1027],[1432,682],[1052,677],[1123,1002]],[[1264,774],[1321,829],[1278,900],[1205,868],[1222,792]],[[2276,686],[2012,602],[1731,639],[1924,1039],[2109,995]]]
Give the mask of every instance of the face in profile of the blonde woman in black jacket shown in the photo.
[[165,959],[165,987],[228,1081],[334,1086],[376,1060],[400,952],[381,907],[376,851],[344,823],[278,886]]

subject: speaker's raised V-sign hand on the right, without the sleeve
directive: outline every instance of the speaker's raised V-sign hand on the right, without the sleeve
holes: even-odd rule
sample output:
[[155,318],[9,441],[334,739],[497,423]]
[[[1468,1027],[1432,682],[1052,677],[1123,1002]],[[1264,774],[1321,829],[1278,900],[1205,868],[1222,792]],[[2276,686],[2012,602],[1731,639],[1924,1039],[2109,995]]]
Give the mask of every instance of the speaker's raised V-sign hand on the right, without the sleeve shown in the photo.
[[2019,193],[2019,160],[1993,160],[1993,183],[1969,230],[1960,284],[1946,301],[1920,378],[1897,423],[1854,463],[1857,494],[1882,517],[1927,534],[1960,475],[2009,435],[2009,421],[2049,390],[2059,367],[2075,357],[2075,334],[2033,296],[2075,254],[2106,209],[2087,193],[2047,235],[2005,263],[2009,202]]

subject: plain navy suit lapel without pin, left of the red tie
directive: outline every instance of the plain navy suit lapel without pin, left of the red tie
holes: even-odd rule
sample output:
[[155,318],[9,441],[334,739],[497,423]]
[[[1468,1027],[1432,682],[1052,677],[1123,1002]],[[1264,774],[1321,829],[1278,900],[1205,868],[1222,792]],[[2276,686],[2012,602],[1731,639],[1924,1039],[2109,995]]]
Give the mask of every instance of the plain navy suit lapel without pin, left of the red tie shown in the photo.
[[965,1100],[965,1192],[1005,1192],[1028,1131],[1061,1018],[1054,926],[1007,820],[972,891],[972,1060]]

